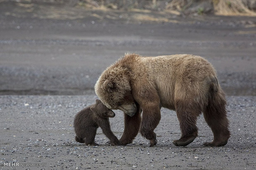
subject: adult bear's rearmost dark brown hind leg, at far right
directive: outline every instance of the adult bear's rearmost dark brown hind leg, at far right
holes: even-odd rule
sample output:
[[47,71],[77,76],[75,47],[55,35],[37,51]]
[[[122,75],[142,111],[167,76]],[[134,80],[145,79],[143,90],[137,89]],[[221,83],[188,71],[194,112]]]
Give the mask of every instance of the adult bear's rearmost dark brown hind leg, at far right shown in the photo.
[[225,93],[218,84],[216,76],[213,76],[211,78],[208,105],[204,109],[204,119],[213,131],[214,139],[212,142],[204,143],[204,145],[223,146],[227,144],[230,131],[228,129],[226,105]]

